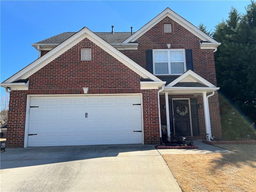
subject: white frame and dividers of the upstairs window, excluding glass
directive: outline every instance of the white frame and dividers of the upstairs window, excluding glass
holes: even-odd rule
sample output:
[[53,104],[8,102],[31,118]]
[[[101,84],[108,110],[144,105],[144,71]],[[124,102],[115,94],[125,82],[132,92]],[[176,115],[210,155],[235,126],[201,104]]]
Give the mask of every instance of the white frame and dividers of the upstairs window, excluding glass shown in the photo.
[[[153,51],[153,74],[154,75],[182,75],[183,73],[181,73],[181,74],[177,74],[177,73],[171,73],[171,65],[170,65],[170,63],[171,63],[171,61],[170,61],[170,51],[175,51],[175,50],[178,50],[178,51],[183,51],[183,57],[184,57],[184,72],[186,72],[186,53],[185,53],[185,49],[153,49],[152,51]],[[156,74],[156,72],[155,72],[155,54],[154,54],[154,52],[155,51],[168,51],[168,74]]]

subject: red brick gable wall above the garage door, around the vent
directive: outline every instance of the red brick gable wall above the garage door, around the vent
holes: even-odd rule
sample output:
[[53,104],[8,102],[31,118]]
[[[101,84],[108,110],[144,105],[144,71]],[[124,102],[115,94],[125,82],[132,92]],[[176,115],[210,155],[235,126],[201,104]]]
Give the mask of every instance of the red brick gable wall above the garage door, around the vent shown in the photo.
[[[92,61],[81,61],[81,48],[92,49]],[[87,38],[29,78],[30,89],[140,88],[140,76]]]

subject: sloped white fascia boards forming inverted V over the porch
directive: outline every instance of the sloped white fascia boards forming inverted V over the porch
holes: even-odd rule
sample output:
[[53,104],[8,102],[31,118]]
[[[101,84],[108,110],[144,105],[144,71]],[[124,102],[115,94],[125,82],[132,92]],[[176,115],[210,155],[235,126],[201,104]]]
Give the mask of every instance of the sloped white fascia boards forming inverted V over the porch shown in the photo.
[[204,84],[205,86],[216,88],[216,86],[214,84],[208,82],[207,80],[205,80],[204,78],[202,78],[201,76],[199,76],[198,74],[193,72],[192,70],[186,71],[184,74],[182,74],[181,76],[176,78],[174,81],[170,82],[170,84],[168,84],[166,87],[173,87],[174,85],[176,85],[178,82],[180,82],[181,80],[183,80],[184,78],[186,78],[189,75],[194,77],[196,80],[198,80],[198,82]]

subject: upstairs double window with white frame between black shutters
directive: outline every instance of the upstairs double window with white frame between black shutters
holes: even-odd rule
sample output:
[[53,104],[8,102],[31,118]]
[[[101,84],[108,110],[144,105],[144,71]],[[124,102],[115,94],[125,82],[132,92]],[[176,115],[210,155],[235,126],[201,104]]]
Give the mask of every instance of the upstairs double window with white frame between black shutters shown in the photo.
[[184,49],[153,50],[154,75],[181,75],[186,71]]

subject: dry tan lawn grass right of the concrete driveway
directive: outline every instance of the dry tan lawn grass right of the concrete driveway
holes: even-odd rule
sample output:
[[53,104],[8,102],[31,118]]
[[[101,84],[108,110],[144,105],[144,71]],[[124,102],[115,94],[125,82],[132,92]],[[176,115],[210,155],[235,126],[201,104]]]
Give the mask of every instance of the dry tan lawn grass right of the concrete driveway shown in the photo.
[[163,158],[183,192],[256,191],[256,145],[218,147],[236,153],[163,155]]

